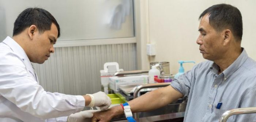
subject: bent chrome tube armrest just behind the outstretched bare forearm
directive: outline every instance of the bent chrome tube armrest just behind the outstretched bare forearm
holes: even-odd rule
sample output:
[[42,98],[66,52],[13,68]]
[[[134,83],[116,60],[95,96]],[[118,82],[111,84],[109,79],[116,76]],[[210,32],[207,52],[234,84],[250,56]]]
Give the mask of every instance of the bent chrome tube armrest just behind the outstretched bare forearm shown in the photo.
[[[139,85],[133,92],[133,99],[139,97],[140,90],[142,89],[147,89],[147,88],[159,88],[159,87],[165,87],[169,86],[170,83],[156,83],[156,84],[144,84],[144,85]],[[134,118],[138,119],[139,118],[139,113],[134,113]]]

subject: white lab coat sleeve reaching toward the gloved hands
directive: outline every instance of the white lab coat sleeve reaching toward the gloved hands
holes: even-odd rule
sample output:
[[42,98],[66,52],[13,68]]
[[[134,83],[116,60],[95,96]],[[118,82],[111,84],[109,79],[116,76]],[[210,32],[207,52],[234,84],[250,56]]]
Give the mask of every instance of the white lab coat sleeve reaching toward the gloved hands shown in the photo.
[[68,116],[83,110],[81,95],[46,92],[14,53],[0,56],[0,95],[22,111],[41,119]]

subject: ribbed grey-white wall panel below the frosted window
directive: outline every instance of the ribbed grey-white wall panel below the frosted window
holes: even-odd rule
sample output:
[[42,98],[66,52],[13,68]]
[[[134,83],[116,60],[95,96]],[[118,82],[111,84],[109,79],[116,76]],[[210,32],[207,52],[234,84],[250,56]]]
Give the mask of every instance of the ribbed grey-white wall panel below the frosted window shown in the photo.
[[101,90],[99,71],[105,62],[129,71],[136,70],[136,60],[136,44],[109,44],[55,48],[44,64],[33,65],[46,91],[82,95]]

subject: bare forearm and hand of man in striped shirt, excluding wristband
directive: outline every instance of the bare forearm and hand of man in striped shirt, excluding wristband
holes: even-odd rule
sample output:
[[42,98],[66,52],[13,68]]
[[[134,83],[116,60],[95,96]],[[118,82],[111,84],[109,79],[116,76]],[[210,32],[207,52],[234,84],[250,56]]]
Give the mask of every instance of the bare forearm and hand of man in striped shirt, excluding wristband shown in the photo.
[[[165,106],[179,98],[182,94],[175,90],[172,86],[166,86],[154,91],[150,91],[136,99],[128,102],[132,113],[150,111]],[[114,106],[108,110],[94,113],[93,122],[109,122],[116,115],[123,114],[124,110],[121,106]]]

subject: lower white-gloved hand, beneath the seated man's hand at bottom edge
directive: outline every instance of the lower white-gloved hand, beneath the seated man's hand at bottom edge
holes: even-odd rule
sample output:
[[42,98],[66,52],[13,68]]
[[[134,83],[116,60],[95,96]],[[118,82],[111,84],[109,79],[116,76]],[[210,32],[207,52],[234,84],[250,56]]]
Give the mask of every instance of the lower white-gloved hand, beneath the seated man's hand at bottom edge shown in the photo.
[[68,122],[91,122],[93,113],[100,110],[85,110],[68,116]]

